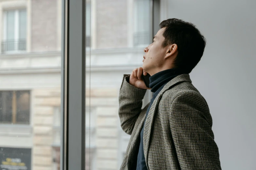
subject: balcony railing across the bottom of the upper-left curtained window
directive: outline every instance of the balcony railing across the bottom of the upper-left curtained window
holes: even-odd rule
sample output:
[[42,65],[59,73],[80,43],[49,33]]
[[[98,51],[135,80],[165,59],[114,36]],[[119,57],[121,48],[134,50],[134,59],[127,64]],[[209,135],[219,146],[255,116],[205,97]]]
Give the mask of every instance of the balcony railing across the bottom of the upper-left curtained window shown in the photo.
[[18,40],[5,40],[2,41],[2,53],[25,51],[26,50],[26,39]]

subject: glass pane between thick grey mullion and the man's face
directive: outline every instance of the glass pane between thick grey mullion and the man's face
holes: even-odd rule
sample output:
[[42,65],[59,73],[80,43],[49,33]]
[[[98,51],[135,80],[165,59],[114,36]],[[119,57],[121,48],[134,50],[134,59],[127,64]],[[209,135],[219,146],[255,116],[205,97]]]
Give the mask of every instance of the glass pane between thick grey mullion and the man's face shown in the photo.
[[117,170],[130,138],[121,129],[118,94],[123,75],[142,66],[144,48],[151,44],[150,1],[91,0],[90,7],[91,53],[90,49],[86,50],[86,168]]

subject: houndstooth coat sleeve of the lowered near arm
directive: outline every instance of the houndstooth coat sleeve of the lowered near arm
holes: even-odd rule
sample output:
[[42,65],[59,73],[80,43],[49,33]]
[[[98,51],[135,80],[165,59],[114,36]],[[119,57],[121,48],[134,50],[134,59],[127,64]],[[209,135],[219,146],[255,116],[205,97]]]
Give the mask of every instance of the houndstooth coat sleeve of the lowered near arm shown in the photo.
[[169,118],[181,170],[221,170],[212,117],[203,96],[195,91],[179,92]]

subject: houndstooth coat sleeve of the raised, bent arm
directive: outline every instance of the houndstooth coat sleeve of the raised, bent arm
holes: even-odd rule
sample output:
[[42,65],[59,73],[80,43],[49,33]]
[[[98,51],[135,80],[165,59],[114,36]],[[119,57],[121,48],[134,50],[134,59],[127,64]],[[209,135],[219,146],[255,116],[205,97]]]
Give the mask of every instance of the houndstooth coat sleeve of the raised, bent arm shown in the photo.
[[141,113],[142,99],[146,90],[139,89],[129,83],[130,75],[125,74],[119,92],[118,114],[121,127],[127,134],[131,135],[133,127]]

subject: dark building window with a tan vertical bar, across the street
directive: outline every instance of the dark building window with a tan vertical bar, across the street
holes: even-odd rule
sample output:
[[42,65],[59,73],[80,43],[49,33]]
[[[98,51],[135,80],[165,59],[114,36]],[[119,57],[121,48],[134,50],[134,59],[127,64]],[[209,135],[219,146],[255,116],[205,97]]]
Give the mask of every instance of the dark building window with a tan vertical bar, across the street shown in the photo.
[[29,91],[0,91],[0,123],[29,124],[29,115]]

